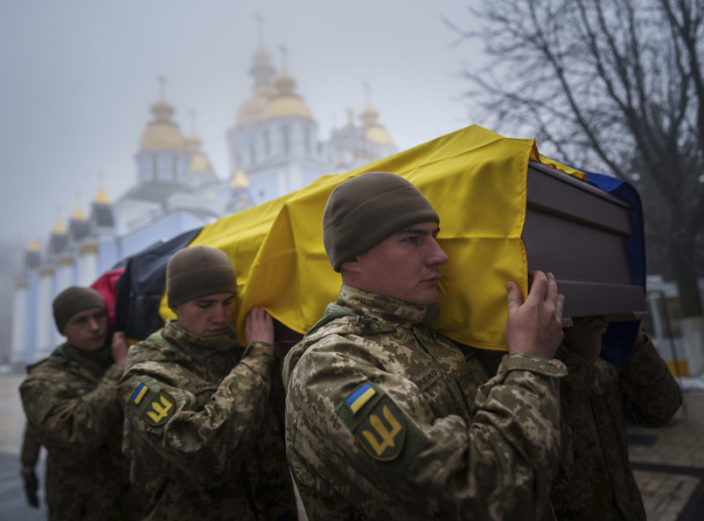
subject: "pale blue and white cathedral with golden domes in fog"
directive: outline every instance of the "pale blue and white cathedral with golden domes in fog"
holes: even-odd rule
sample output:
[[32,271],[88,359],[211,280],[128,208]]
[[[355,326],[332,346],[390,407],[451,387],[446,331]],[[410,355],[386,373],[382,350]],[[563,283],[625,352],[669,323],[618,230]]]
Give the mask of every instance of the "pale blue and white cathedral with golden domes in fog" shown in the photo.
[[249,74],[252,95],[225,134],[226,179],[201,151],[201,139],[182,133],[162,93],[134,154],[134,186],[114,202],[99,189],[88,213],[77,206],[68,222],[58,220],[44,247],[37,239],[27,244],[13,297],[13,365],[44,358],[63,341],[51,302],[66,287],[88,286],[158,241],[397,151],[369,103],[358,120],[348,111],[346,125],[321,137],[293,75],[285,64],[277,71],[263,45],[254,52]]

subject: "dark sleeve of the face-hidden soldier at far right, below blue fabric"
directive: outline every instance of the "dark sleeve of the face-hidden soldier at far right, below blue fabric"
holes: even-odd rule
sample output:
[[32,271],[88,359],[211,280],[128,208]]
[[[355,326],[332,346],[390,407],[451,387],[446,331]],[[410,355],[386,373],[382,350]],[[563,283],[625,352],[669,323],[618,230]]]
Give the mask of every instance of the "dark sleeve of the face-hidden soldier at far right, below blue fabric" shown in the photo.
[[647,335],[634,346],[619,372],[626,419],[643,427],[660,427],[682,404],[682,391]]

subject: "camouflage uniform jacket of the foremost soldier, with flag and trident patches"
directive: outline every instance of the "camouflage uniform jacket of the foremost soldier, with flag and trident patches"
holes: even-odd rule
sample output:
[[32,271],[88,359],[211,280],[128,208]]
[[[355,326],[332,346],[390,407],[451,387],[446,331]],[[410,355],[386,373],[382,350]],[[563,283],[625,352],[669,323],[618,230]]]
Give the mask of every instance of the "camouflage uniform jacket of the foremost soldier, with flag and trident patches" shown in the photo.
[[343,286],[284,361],[287,456],[308,517],[541,517],[560,457],[558,360],[486,381],[417,306]]

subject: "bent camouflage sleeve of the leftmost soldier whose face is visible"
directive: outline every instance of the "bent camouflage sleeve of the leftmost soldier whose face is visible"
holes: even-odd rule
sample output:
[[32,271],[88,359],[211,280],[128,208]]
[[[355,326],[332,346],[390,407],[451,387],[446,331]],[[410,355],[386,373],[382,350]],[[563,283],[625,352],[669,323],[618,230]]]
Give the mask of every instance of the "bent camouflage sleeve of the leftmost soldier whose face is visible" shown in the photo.
[[111,365],[97,386],[84,394],[56,375],[27,377],[20,385],[20,396],[41,444],[76,453],[101,446],[122,416],[117,384],[123,368]]

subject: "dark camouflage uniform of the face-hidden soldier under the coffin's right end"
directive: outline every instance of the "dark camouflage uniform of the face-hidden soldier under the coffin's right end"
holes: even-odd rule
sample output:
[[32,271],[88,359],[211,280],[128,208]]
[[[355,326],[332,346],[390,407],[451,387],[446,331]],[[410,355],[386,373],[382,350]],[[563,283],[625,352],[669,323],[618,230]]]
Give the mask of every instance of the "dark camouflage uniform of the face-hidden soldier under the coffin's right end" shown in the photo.
[[682,403],[677,382],[647,339],[620,370],[596,364],[560,346],[569,376],[562,380],[562,406],[572,429],[572,479],[556,487],[560,519],[645,520],[643,500],[628,459],[626,422],[665,425]]

